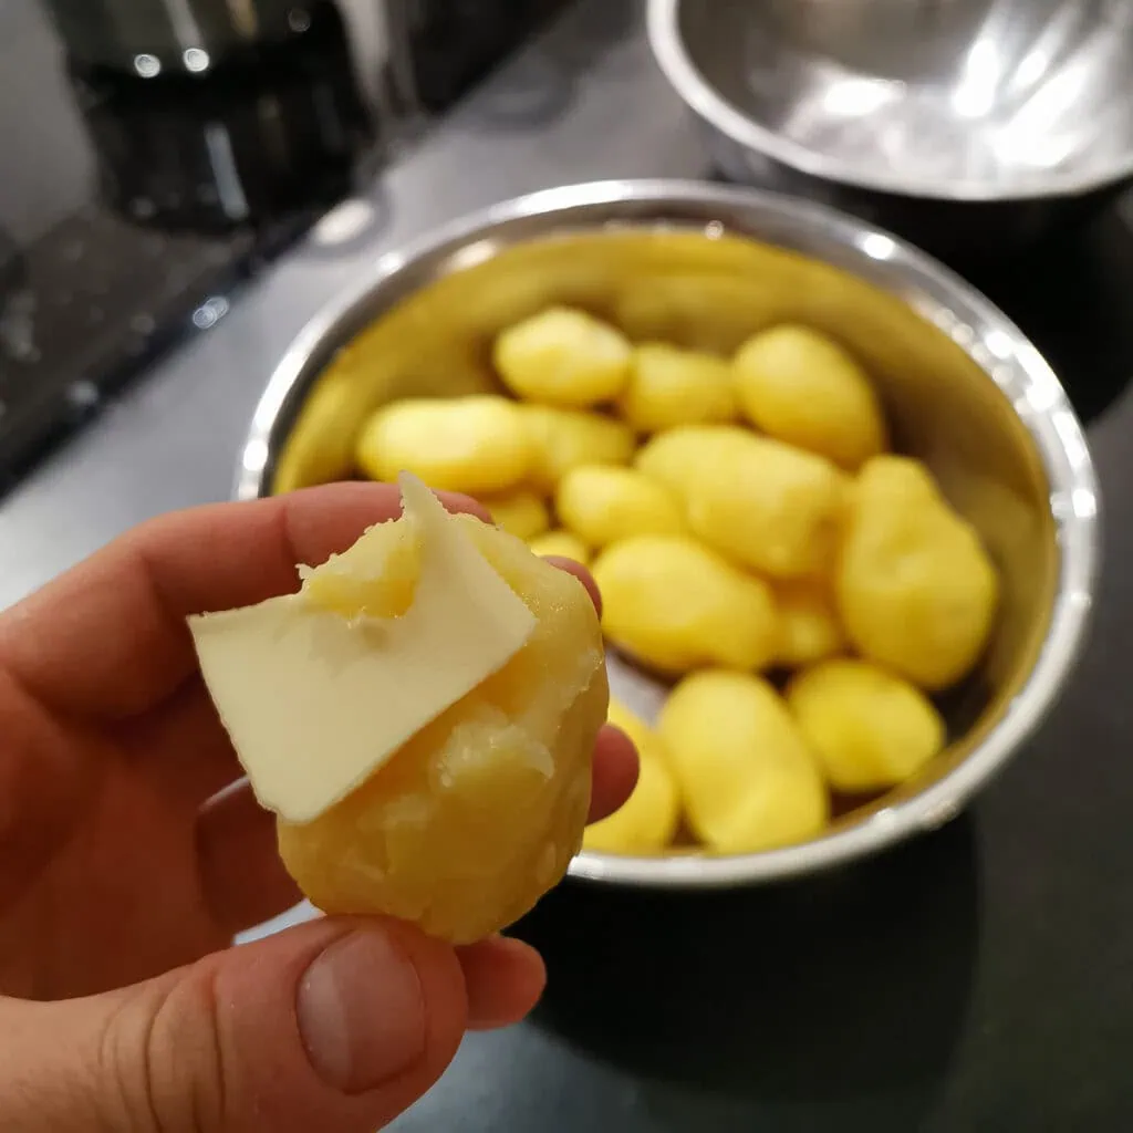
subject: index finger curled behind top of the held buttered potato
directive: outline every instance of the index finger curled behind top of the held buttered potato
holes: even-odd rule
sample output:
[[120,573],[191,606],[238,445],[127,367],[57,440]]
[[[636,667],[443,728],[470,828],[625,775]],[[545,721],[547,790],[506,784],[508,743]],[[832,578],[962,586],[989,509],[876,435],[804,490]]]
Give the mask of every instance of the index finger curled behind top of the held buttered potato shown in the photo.
[[56,712],[137,714],[196,665],[186,615],[291,593],[297,563],[324,562],[400,510],[395,486],[347,483],[143,523],[0,616],[0,667]]

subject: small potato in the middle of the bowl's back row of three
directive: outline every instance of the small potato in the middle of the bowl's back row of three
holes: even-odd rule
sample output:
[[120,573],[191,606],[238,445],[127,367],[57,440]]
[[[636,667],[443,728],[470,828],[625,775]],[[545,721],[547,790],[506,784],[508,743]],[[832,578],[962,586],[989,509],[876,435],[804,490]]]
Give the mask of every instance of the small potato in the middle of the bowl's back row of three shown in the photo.
[[640,433],[732,420],[736,409],[731,367],[715,355],[646,342],[633,351],[619,408]]

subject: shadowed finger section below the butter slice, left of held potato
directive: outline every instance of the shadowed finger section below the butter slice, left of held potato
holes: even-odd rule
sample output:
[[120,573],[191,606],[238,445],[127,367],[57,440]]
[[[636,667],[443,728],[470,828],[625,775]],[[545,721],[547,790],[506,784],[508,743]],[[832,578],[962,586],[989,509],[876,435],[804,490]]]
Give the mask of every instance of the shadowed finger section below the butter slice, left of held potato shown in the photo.
[[303,900],[280,860],[275,816],[256,802],[246,782],[205,803],[196,841],[201,889],[225,931],[242,932]]

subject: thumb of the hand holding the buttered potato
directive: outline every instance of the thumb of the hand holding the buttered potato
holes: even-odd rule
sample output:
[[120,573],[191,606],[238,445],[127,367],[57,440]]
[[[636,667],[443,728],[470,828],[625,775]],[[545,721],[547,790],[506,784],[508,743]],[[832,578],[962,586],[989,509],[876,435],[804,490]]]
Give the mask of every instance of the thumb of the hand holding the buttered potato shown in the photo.
[[0,999],[8,1133],[370,1133],[465,1031],[452,948],[327,918],[107,995]]

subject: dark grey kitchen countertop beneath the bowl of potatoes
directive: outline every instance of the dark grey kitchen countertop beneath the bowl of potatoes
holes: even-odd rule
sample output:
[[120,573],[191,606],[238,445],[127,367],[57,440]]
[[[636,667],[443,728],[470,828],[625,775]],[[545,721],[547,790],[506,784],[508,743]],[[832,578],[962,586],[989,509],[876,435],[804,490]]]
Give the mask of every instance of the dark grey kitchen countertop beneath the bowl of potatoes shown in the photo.
[[[0,607],[225,497],[275,359],[381,253],[517,193],[707,173],[641,8],[573,10],[382,178],[363,238],[316,232],[10,494]],[[1039,738],[937,835],[807,884],[560,887],[519,927],[536,1017],[470,1037],[401,1133],[1133,1128],[1133,236],[1115,213],[979,283],[1062,374],[1105,494],[1094,632]]]

